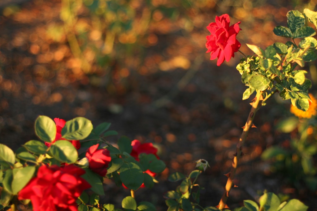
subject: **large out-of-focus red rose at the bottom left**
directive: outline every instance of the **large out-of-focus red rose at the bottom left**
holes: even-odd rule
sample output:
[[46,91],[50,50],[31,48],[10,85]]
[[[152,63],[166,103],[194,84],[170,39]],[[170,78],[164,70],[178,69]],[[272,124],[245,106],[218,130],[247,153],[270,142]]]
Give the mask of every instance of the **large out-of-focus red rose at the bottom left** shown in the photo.
[[83,174],[85,170],[74,165],[43,165],[18,193],[18,198],[30,199],[34,211],[77,211],[77,198],[91,187],[80,177]]

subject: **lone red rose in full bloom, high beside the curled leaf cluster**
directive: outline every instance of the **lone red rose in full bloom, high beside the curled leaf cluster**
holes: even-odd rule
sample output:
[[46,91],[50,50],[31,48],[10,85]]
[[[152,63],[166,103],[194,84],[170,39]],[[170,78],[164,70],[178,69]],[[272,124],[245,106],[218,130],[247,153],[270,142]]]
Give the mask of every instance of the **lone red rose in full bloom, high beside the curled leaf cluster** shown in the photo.
[[210,60],[218,58],[217,66],[220,66],[224,60],[229,61],[231,57],[235,57],[234,53],[237,52],[241,46],[240,42],[236,39],[236,35],[241,30],[237,22],[230,25],[230,18],[228,14],[216,16],[216,22],[211,22],[207,29],[211,35],[206,36],[206,53],[210,52]]

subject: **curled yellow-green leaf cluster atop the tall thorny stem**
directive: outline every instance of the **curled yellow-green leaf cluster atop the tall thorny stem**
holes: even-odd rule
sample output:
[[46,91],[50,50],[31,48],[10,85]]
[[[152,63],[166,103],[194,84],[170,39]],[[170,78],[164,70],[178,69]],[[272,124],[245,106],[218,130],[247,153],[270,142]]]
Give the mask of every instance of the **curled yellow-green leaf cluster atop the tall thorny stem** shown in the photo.
[[[295,67],[304,67],[305,62],[317,59],[317,40],[312,37],[315,30],[305,26],[305,16],[297,10],[289,11],[287,18],[288,27],[277,26],[274,33],[292,38],[293,42],[275,42],[264,50],[247,44],[255,55],[241,59],[236,68],[242,82],[249,86],[243,93],[243,99],[248,99],[255,91],[263,92],[264,99],[270,93],[278,92],[282,99],[291,99],[294,106],[307,111],[311,81],[305,76],[307,71]],[[303,39],[297,46],[294,38]]]

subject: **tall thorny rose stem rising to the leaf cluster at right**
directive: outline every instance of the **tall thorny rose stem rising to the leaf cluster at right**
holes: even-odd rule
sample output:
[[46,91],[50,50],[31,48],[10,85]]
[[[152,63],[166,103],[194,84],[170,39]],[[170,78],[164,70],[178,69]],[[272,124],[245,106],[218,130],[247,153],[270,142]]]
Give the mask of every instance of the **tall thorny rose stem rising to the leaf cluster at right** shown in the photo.
[[219,205],[217,206],[219,209],[223,209],[226,207],[226,202],[227,202],[227,199],[229,197],[230,189],[234,185],[233,179],[234,179],[235,174],[236,174],[238,161],[239,161],[241,154],[242,154],[242,147],[243,147],[243,144],[245,142],[245,139],[248,136],[249,130],[252,127],[254,116],[255,116],[259,106],[261,105],[261,104],[259,104],[259,102],[262,99],[263,99],[262,98],[262,91],[257,91],[256,97],[253,99],[253,103],[252,103],[252,107],[251,107],[251,111],[249,113],[248,119],[245,123],[245,126],[243,127],[243,132],[241,134],[239,142],[236,145],[236,153],[234,154],[234,157],[233,157],[230,173],[226,174],[226,176],[228,177],[228,180],[227,180],[227,183],[225,186],[223,196],[221,197],[221,199],[219,201]]

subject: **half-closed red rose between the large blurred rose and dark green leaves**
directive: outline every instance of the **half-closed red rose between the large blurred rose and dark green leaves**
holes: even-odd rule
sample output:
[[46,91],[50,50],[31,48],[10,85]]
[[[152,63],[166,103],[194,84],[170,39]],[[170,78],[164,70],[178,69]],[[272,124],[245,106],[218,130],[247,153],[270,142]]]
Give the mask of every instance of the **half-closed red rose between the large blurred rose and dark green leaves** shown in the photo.
[[107,149],[97,149],[99,144],[89,147],[86,152],[86,157],[89,162],[89,169],[99,174],[106,176],[107,167],[111,161],[110,152]]

